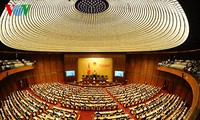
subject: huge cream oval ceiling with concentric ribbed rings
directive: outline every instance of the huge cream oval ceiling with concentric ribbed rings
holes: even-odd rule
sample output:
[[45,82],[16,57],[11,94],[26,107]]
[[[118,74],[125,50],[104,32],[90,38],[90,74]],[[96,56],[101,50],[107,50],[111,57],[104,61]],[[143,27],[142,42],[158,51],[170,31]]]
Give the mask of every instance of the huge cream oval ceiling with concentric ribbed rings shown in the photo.
[[176,0],[10,1],[0,27],[5,45],[48,52],[165,50],[189,35]]

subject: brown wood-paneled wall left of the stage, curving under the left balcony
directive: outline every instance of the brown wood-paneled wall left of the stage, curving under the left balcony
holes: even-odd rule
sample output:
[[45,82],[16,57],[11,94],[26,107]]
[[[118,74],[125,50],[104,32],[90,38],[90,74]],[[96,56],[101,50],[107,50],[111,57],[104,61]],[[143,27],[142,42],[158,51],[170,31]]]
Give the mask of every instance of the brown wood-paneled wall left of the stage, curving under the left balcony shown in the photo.
[[[7,59],[13,59],[12,55],[6,55]],[[36,61],[35,69],[4,78],[0,82],[0,100],[4,99],[9,93],[19,90],[19,81],[21,80],[26,80],[29,85],[47,82],[64,82],[63,54],[25,53],[18,54],[18,58]]]

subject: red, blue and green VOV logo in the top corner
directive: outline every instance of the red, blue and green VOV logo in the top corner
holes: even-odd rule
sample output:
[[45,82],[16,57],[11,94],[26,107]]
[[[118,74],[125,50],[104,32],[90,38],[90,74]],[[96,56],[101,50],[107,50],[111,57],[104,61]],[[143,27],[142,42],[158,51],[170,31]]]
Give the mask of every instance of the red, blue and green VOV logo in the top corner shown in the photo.
[[[22,2],[22,0],[20,0]],[[27,16],[31,5],[30,4],[20,4],[20,3],[14,3],[14,2],[10,2],[8,4],[5,5],[6,9],[8,11],[8,15],[11,16],[12,13],[15,16],[21,16],[22,13],[24,13],[25,16]]]

